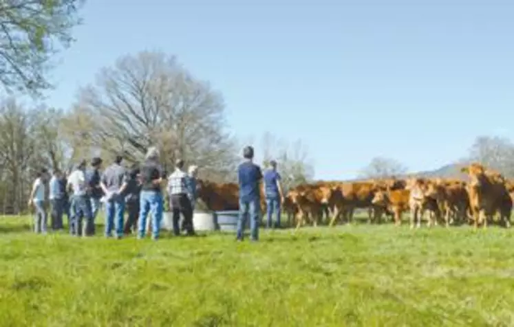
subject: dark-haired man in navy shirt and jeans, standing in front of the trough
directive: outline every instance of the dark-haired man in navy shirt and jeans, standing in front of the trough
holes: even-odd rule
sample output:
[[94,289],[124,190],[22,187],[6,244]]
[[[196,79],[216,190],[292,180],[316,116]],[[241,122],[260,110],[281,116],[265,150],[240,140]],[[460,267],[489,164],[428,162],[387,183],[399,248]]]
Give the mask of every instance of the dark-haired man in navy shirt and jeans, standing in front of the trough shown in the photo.
[[259,218],[261,214],[259,182],[261,168],[253,163],[253,147],[243,150],[244,163],[237,168],[239,181],[239,220],[237,221],[237,240],[243,240],[246,218],[250,214],[250,240],[259,239]]

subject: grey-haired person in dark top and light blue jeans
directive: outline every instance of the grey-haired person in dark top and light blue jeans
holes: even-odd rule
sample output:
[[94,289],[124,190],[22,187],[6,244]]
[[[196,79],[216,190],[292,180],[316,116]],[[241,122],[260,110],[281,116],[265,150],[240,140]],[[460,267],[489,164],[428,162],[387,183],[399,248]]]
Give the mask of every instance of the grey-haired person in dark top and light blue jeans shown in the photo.
[[144,238],[144,232],[147,227],[147,216],[151,211],[152,219],[152,238],[158,240],[160,232],[160,223],[162,221],[162,211],[164,203],[162,201],[161,183],[162,168],[159,164],[160,154],[157,148],[151,147],[144,157],[145,161],[140,170],[141,175],[141,193],[140,193],[140,210],[138,223],[138,238]]

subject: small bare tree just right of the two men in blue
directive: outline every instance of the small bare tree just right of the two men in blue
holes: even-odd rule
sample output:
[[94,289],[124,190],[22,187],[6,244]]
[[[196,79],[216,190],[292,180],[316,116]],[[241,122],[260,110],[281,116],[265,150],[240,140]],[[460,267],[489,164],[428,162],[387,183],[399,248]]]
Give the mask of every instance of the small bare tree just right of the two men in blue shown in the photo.
[[286,190],[308,183],[314,177],[314,166],[308,157],[308,148],[298,139],[289,144],[277,139],[271,133],[265,133],[261,139],[262,166],[269,167],[269,162],[275,159]]

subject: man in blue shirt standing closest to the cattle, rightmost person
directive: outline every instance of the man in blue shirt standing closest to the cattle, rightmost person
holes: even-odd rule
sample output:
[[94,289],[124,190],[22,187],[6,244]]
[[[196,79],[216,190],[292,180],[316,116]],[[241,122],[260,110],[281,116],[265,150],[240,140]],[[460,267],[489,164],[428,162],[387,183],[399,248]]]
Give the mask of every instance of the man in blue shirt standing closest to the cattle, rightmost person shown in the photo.
[[266,194],[266,213],[268,216],[266,228],[271,227],[273,211],[277,213],[277,225],[275,227],[280,228],[280,206],[283,203],[281,177],[277,172],[277,161],[270,161],[270,166],[271,168],[264,172],[264,193]]

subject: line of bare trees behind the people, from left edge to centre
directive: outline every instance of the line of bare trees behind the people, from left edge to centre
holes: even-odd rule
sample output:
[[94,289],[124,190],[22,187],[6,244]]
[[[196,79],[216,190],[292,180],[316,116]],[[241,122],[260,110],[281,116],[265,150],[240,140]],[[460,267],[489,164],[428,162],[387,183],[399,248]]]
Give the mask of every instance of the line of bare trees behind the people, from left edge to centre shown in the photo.
[[[243,145],[228,132],[222,95],[191,76],[175,56],[161,52],[123,56],[101,69],[68,110],[3,100],[0,144],[5,149],[0,154],[3,214],[28,209],[34,174],[43,167],[69,171],[81,159],[99,156],[108,163],[120,153],[127,163],[136,163],[147,148],[158,146],[164,170],[180,157],[199,166],[202,179],[233,182]],[[263,146],[264,166],[277,159],[286,188],[312,178],[301,142]]]

